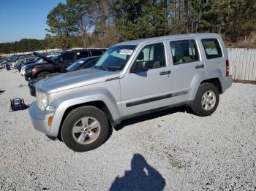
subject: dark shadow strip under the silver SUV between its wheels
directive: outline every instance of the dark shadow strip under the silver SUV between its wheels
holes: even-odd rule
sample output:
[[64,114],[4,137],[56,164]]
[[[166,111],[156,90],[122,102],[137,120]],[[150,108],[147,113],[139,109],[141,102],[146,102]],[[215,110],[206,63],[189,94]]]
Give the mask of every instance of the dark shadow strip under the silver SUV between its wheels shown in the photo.
[[165,110],[162,110],[159,112],[154,112],[151,114],[143,114],[141,116],[134,117],[129,120],[124,120],[123,122],[121,122],[120,125],[116,125],[116,127],[114,127],[114,129],[118,131],[128,125],[133,125],[135,123],[143,122],[146,120],[153,120],[158,117],[162,117],[162,116],[165,116],[168,114],[174,114],[174,113],[178,113],[178,112],[182,112],[182,113],[187,112],[189,114],[192,114],[192,110],[190,109],[189,106],[178,106],[178,107],[174,107],[174,108],[165,109]]

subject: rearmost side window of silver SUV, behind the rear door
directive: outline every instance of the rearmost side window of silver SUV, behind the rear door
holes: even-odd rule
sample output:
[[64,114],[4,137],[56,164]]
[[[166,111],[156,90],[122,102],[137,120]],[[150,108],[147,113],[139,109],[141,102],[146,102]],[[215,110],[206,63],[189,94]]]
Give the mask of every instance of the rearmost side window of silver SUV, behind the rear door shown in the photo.
[[222,57],[222,50],[217,39],[202,39],[202,42],[207,59]]

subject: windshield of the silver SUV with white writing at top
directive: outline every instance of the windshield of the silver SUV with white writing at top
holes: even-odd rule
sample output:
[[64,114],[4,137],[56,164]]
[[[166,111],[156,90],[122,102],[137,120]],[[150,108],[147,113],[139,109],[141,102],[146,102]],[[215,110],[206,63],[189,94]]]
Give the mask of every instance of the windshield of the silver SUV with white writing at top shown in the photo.
[[132,55],[133,50],[136,46],[123,45],[110,47],[99,61],[95,64],[94,68],[104,69],[108,71],[118,71],[124,68],[125,64]]

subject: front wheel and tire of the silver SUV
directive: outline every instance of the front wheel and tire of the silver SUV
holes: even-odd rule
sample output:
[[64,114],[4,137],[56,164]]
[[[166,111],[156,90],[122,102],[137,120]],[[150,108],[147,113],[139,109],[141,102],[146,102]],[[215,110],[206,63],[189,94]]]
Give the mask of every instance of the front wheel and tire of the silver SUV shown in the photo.
[[108,138],[108,118],[94,106],[82,106],[67,115],[61,128],[61,139],[75,152],[96,149]]

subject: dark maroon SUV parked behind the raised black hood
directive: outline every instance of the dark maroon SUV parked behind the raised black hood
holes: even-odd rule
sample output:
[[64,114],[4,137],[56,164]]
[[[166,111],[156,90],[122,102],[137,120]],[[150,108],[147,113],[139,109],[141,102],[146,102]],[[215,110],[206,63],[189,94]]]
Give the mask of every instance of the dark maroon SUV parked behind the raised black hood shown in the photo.
[[[53,56],[53,61],[59,63],[63,68],[67,68],[69,65],[79,60],[80,58],[86,58],[94,55],[102,55],[106,49],[78,49],[78,50],[67,50],[60,52]],[[59,67],[54,66],[50,63],[34,64],[26,67],[25,79],[27,81],[36,79],[38,77],[46,77],[49,74],[61,72]]]

